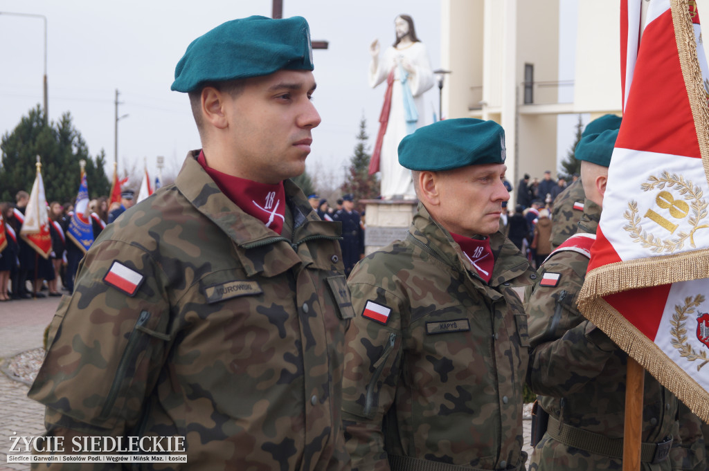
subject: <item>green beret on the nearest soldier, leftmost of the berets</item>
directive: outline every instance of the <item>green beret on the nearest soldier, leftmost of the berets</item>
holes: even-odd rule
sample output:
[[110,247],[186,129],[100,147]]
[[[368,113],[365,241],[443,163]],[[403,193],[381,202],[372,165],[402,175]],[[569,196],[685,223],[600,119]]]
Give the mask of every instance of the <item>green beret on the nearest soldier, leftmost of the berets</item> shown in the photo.
[[313,68],[310,28],[305,18],[250,16],[218,25],[192,41],[177,62],[170,88],[189,92],[211,81]]

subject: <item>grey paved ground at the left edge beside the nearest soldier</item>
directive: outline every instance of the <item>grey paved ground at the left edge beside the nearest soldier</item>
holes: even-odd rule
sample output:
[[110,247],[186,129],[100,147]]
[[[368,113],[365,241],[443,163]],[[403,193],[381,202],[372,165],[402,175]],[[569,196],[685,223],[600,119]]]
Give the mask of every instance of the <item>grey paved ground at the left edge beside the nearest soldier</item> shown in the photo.
[[[60,297],[0,302],[0,368],[23,351],[42,346]],[[44,431],[44,407],[27,397],[29,387],[0,373],[0,471],[29,470],[25,463],[7,463],[13,432],[38,436]]]

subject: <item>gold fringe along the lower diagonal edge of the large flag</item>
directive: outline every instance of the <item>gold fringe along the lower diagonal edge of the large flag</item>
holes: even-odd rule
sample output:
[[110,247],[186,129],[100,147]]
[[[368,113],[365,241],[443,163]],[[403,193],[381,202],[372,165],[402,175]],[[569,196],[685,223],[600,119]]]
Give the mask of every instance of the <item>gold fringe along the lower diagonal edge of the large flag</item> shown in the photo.
[[600,299],[584,310],[584,317],[596,324],[616,345],[635,358],[637,363],[674,392],[694,414],[709,424],[709,408],[703,387],[671,361],[652,340],[637,330],[623,314]]

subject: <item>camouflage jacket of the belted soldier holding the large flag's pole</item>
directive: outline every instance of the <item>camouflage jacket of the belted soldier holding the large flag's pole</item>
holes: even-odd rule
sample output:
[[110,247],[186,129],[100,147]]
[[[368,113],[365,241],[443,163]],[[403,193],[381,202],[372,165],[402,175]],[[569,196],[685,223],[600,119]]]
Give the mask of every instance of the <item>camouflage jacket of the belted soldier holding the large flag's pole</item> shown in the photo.
[[[601,208],[586,200],[579,232],[595,233]],[[584,319],[576,306],[586,277],[588,257],[575,251],[557,251],[542,264],[545,273],[560,275],[557,285],[539,283],[527,288],[529,314],[530,386],[541,395],[540,404],[563,424],[622,438],[625,411],[627,355],[600,329]],[[676,397],[646,373],[642,441],[657,443],[676,436]],[[586,442],[584,442],[586,443]],[[620,469],[621,460],[566,446],[547,434],[532,453],[530,470]],[[642,463],[643,469],[669,470],[671,460],[659,465]]]

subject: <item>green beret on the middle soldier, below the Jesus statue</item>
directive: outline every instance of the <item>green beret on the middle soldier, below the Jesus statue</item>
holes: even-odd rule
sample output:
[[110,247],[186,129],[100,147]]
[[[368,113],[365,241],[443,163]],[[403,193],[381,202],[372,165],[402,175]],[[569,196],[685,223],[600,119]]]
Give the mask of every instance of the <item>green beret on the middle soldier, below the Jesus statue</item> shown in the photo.
[[398,147],[399,164],[411,170],[451,170],[505,162],[505,130],[494,121],[442,120],[419,127]]

